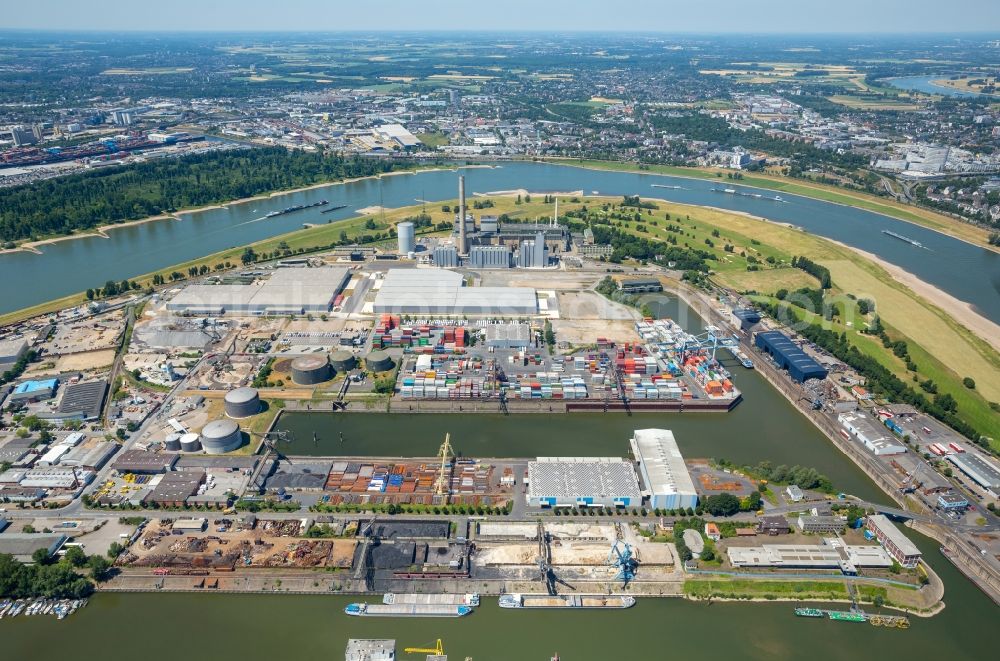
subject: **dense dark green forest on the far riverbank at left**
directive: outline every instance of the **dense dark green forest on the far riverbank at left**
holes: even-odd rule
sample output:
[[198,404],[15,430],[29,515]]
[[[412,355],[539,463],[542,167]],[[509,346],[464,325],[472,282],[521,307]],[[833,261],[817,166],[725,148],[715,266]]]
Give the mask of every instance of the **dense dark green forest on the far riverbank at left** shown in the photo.
[[99,168],[0,189],[0,242],[70,235],[397,167],[393,161],[265,147]]

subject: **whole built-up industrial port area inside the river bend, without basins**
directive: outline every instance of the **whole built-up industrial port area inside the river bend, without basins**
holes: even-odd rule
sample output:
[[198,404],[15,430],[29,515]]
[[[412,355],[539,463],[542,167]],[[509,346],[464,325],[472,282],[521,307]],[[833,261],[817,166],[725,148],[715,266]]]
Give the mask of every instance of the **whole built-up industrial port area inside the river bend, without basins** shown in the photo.
[[[508,230],[518,257],[510,248],[506,268],[484,270],[467,248],[506,244],[474,228],[470,246],[462,232],[420,246],[400,232],[398,246],[360,260],[209,273],[4,329],[0,358],[41,360],[0,395],[11,422],[0,430],[2,516],[15,530],[66,528],[43,547],[4,531],[0,553],[113,541],[101,590],[339,593],[357,595],[344,612],[358,618],[464,620],[483,599],[511,611],[641,609],[643,597],[724,598],[700,593],[706,581],[821,580],[844,586],[851,609],[800,615],[901,628],[904,616],[865,610],[874,594],[926,615],[943,589],[908,524],[943,530],[946,556],[1000,591],[997,526],[973,523],[1000,493],[992,457],[871,401],[845,365],[728,292],[699,299],[657,267],[610,273],[544,225],[534,239]],[[699,300],[704,324],[611,301],[596,290],[609,275],[654,302]],[[683,456],[670,416],[753,406],[740,388],[748,370],[893,506]],[[356,439],[320,422],[648,412],[664,414],[655,428],[562,456],[540,446],[505,457],[502,443],[474,456],[447,425],[436,454],[405,439],[392,456],[338,452]],[[287,427],[292,413],[314,416],[313,431]],[[46,437],[19,438],[14,416],[42,421]],[[708,509],[725,498],[735,511]],[[369,644],[395,650],[352,643],[357,658]]]

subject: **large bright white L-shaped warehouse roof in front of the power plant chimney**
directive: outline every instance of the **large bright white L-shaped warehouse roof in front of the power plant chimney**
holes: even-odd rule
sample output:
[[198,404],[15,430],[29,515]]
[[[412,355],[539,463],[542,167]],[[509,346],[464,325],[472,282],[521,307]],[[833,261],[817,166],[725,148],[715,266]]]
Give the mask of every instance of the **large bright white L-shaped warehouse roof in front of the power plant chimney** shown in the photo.
[[523,316],[538,312],[527,287],[463,287],[447,269],[390,269],[375,297],[376,314]]

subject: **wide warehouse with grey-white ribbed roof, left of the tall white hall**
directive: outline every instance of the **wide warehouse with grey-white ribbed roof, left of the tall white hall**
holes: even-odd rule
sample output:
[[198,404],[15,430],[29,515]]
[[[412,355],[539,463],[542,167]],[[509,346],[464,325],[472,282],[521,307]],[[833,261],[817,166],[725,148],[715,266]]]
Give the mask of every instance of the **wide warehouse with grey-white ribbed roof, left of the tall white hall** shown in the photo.
[[641,501],[632,464],[618,457],[539,457],[528,463],[531,507],[629,507]]

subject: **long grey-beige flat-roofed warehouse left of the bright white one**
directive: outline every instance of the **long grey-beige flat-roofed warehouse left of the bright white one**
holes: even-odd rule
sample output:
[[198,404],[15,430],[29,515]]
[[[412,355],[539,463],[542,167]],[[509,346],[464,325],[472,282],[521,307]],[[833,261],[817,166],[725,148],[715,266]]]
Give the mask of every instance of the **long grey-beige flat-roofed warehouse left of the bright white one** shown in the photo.
[[206,315],[328,312],[349,278],[349,269],[333,266],[276,269],[253,284],[189,285],[167,301],[167,310]]

